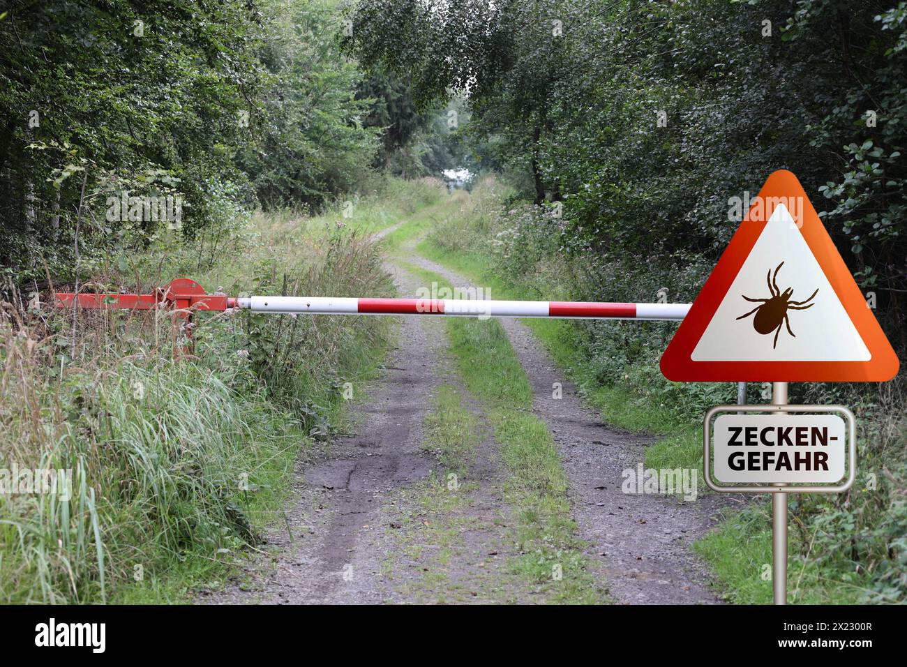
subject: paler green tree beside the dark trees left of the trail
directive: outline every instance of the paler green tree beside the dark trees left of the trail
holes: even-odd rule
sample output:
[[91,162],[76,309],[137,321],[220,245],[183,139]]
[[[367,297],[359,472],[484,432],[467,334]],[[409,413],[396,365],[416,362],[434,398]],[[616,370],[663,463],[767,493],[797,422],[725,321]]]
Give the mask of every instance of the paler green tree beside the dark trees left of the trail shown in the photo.
[[371,99],[341,57],[343,28],[330,0],[268,2],[259,58],[268,72],[237,162],[264,206],[311,210],[366,178],[377,148]]

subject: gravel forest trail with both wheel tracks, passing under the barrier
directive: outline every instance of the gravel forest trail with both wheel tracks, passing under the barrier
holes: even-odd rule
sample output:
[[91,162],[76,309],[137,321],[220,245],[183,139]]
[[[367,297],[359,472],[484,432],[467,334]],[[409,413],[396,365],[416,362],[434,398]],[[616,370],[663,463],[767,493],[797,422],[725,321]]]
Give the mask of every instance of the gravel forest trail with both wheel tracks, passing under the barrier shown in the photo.
[[[413,239],[405,241],[386,265],[401,295],[425,287],[407,264],[473,287],[419,256],[414,246]],[[531,382],[532,411],[551,431],[568,476],[571,511],[595,585],[617,603],[719,602],[690,551],[713,525],[714,499],[622,493],[621,472],[643,460],[650,438],[602,423],[529,329],[512,319],[502,324]],[[550,589],[528,582],[512,566],[521,553],[499,447],[483,406],[463,389],[448,361],[447,342],[441,319],[399,319],[380,378],[352,407],[354,433],[298,461],[286,515],[266,535],[267,555],[251,559],[245,574],[202,601],[551,601]],[[557,400],[555,382],[563,388]],[[467,425],[453,467],[449,456],[435,456],[426,433],[441,395],[455,397]]]

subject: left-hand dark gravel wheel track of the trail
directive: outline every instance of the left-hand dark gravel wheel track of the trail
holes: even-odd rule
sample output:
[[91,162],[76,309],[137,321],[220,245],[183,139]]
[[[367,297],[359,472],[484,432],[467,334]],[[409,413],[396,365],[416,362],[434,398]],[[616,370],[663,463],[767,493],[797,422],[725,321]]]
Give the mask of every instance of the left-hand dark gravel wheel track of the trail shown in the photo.
[[[394,274],[402,292],[415,289],[412,277]],[[387,526],[376,519],[383,498],[436,466],[421,442],[441,379],[434,368],[442,340],[436,322],[400,319],[381,377],[351,409],[356,435],[297,463],[285,521],[266,535],[268,557],[253,559],[247,581],[230,583],[209,602],[382,602]]]

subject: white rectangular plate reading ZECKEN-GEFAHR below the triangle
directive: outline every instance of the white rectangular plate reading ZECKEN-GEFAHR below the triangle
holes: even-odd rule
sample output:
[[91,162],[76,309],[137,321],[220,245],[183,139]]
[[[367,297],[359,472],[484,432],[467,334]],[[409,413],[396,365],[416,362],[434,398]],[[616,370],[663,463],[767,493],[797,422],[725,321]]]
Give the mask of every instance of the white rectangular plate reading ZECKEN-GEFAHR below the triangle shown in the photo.
[[838,415],[725,414],[715,419],[715,478],[726,484],[834,484],[844,478]]

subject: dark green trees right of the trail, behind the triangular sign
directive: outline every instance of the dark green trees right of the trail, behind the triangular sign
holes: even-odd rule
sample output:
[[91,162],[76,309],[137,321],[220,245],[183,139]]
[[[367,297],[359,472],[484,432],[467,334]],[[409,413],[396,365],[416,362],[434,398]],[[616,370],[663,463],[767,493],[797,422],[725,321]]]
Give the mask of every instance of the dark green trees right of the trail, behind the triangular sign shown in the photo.
[[360,0],[347,45],[425,104],[468,91],[480,163],[561,203],[566,251],[713,263],[736,229],[729,199],[792,170],[907,348],[905,15],[837,0]]

